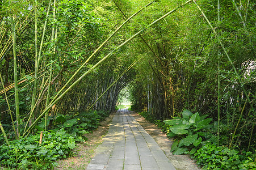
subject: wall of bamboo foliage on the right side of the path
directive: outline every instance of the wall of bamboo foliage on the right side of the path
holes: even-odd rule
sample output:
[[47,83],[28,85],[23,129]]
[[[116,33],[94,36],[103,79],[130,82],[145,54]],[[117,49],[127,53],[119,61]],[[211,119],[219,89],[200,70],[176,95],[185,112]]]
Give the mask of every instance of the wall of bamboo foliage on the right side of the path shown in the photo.
[[[144,57],[130,83],[132,108],[162,121],[182,117],[184,109],[208,115],[217,144],[254,153],[255,2],[219,2],[220,10],[217,1],[196,1],[204,14],[195,4],[184,6],[147,30],[146,43],[131,45]],[[157,2],[142,24],[177,3]]]

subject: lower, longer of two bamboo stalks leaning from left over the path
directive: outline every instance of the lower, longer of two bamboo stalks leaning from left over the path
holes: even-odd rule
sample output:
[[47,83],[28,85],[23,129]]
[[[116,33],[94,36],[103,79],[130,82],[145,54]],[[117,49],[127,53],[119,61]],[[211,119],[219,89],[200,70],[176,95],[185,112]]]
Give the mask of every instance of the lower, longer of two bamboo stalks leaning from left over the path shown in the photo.
[[[179,7],[183,7],[185,5],[187,5],[189,2],[191,2],[193,0],[189,0],[187,2],[185,2],[184,4],[182,4]],[[168,12],[167,14],[170,15],[171,13],[173,13],[174,11],[176,11],[179,7],[175,8],[174,10]],[[156,24],[157,22],[159,22],[161,19],[165,18],[166,16],[168,16],[167,14],[163,15],[161,18],[157,19],[156,21],[154,21],[153,23],[149,24],[148,27],[151,27],[152,25]],[[146,29],[145,28],[145,29]],[[33,122],[33,124],[30,126],[30,128],[28,128],[26,131],[24,131],[23,133],[23,137],[25,135],[27,135],[30,130],[37,124],[37,122],[40,120],[41,117],[43,117],[45,115],[46,112],[49,111],[49,109],[51,109],[51,107],[57,103],[57,101],[59,101],[60,99],[62,99],[62,97],[64,97],[66,95],[67,92],[69,92],[77,83],[79,83],[87,74],[91,73],[91,71],[93,71],[94,69],[96,69],[96,67],[98,67],[103,61],[105,61],[108,57],[110,57],[114,52],[116,52],[117,50],[119,50],[122,46],[124,46],[125,44],[127,44],[127,42],[131,41],[132,39],[134,39],[136,36],[140,35],[140,33],[142,33],[143,31],[145,31],[145,29],[141,29],[139,32],[135,33],[135,35],[131,36],[128,40],[124,41],[122,44],[120,44],[119,46],[116,47],[116,49],[112,50],[112,52],[108,53],[107,56],[103,57],[98,63],[96,63],[93,67],[91,67],[89,70],[87,70],[82,76],[80,76],[77,80],[75,80],[75,82],[70,85],[64,92],[62,92],[62,94],[57,97],[57,99],[52,100],[52,102],[49,104],[49,106],[47,108],[44,109],[44,111],[40,114],[39,117],[37,117],[37,119],[35,120],[35,122]]]

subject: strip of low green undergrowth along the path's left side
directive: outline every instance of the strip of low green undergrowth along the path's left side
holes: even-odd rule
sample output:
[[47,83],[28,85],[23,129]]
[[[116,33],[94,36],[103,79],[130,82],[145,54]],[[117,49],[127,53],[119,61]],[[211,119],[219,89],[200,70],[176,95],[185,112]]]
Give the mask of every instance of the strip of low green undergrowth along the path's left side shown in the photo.
[[[51,130],[43,131],[43,140],[39,143],[40,131],[44,129],[42,120],[34,135],[14,139],[10,146],[2,143],[0,147],[0,165],[6,169],[53,169],[58,159],[68,158],[75,153],[75,142],[86,141],[84,134],[90,133],[100,125],[109,113],[91,111],[58,115],[52,118]],[[48,121],[49,124],[49,121]]]

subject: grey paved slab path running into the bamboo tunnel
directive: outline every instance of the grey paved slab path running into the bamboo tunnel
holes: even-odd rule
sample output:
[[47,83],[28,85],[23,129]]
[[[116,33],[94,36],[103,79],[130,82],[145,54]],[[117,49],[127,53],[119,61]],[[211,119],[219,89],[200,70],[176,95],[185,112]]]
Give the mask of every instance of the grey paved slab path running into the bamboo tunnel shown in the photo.
[[117,111],[103,139],[87,170],[175,169],[156,141],[127,109]]

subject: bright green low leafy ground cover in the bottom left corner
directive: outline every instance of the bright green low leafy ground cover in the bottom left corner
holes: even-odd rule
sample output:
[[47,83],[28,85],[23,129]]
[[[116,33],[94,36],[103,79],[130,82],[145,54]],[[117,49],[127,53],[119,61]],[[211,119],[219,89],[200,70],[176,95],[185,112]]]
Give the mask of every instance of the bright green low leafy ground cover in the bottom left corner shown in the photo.
[[45,131],[42,143],[40,134],[10,141],[10,146],[0,147],[1,166],[15,169],[51,169],[53,161],[72,155],[74,138],[64,129]]

